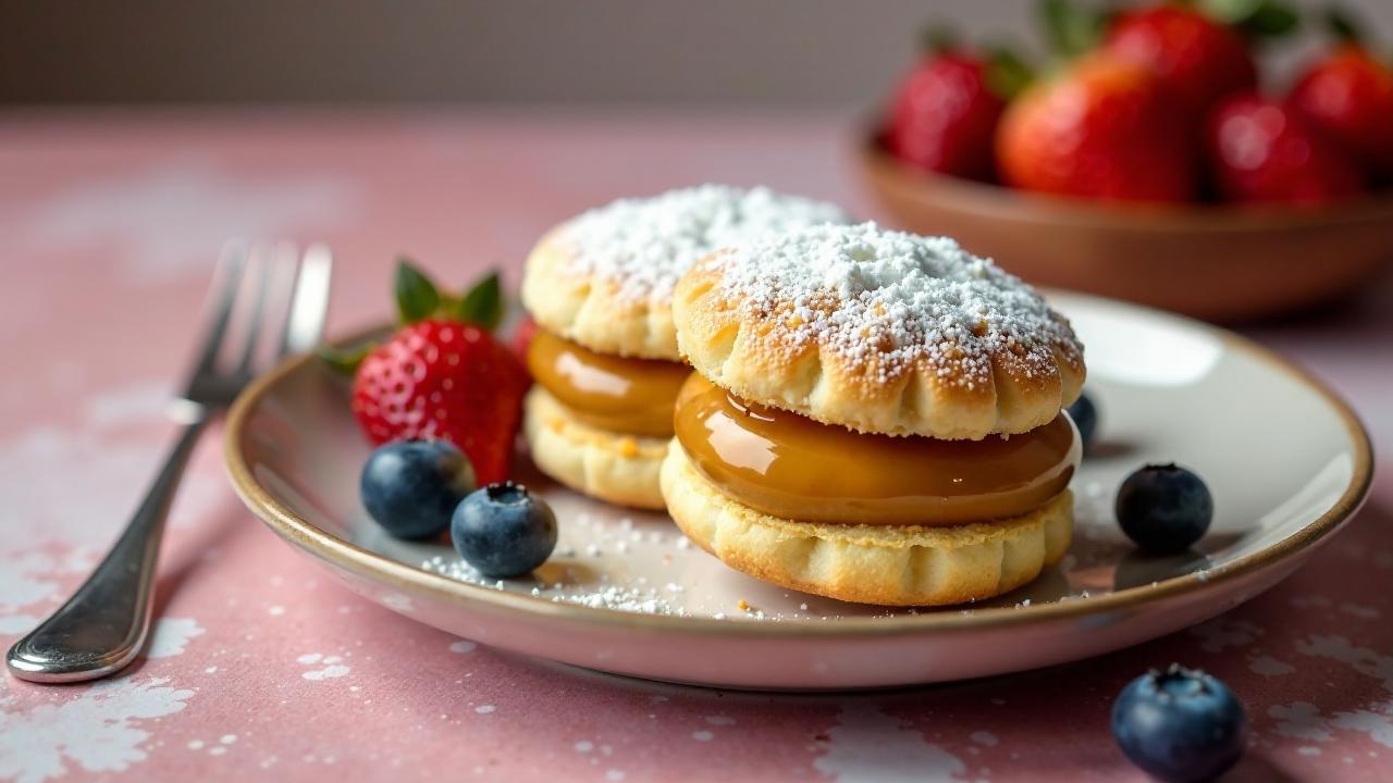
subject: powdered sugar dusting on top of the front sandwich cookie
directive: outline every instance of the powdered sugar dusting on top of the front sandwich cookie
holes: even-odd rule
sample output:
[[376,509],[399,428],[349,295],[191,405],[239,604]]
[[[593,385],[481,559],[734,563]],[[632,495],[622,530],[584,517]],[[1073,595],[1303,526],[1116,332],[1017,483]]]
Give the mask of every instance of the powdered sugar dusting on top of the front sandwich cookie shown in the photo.
[[875,223],[766,235],[712,261],[722,295],[776,326],[770,350],[816,343],[890,380],[919,361],[972,386],[993,357],[1049,372],[1053,350],[1080,355],[1068,322],[1025,283],[947,237]]

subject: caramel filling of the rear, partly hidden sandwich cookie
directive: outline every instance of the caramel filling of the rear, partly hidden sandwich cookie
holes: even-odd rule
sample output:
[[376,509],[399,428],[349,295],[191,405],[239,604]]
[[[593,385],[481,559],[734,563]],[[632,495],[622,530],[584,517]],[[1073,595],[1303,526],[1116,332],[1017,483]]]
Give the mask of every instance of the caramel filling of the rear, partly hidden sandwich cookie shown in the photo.
[[527,351],[532,378],[581,422],[670,437],[673,403],[691,375],[684,364],[599,354],[539,329]]

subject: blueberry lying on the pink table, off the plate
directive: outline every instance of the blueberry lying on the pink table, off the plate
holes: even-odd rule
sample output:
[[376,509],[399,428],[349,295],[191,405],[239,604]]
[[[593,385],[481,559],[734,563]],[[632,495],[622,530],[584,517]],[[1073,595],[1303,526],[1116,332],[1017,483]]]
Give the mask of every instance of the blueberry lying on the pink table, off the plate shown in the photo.
[[1113,737],[1123,752],[1172,783],[1209,780],[1233,766],[1247,723],[1227,685],[1177,663],[1137,677],[1113,702]]

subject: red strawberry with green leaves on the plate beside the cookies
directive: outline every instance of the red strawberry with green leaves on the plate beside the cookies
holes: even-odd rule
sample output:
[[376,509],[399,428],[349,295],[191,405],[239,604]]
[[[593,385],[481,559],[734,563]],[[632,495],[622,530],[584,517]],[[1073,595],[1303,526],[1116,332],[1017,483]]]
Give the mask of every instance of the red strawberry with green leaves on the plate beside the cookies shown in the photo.
[[401,262],[396,287],[397,332],[358,355],[326,355],[354,369],[358,426],[373,444],[449,440],[469,457],[481,485],[506,479],[529,379],[489,333],[501,319],[497,274],[454,298]]

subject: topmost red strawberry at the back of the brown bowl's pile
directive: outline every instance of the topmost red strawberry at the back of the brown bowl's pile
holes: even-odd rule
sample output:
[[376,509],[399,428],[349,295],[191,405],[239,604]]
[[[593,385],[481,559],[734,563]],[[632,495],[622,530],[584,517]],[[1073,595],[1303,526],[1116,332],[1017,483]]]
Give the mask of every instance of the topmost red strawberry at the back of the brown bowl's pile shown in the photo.
[[1197,117],[1224,95],[1258,88],[1258,68],[1243,36],[1184,6],[1121,14],[1109,26],[1103,50],[1151,68],[1181,110]]

